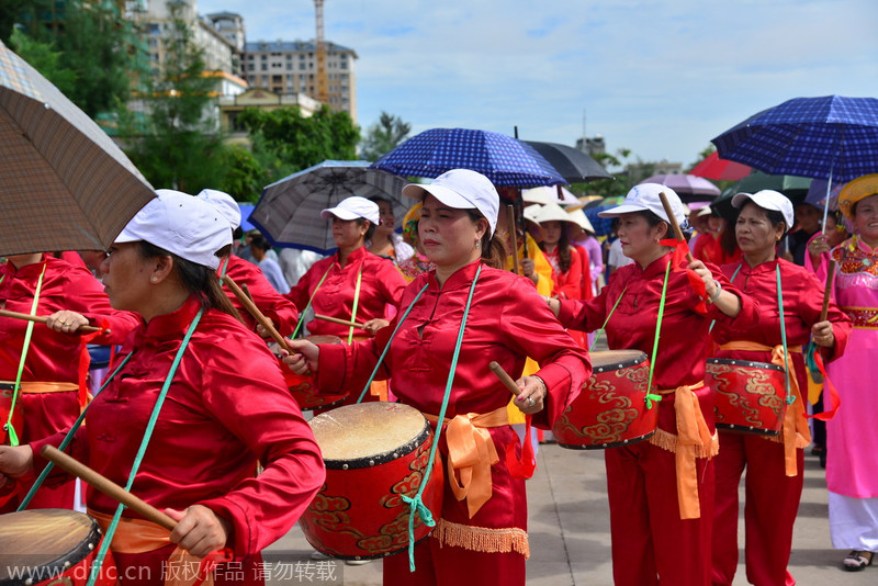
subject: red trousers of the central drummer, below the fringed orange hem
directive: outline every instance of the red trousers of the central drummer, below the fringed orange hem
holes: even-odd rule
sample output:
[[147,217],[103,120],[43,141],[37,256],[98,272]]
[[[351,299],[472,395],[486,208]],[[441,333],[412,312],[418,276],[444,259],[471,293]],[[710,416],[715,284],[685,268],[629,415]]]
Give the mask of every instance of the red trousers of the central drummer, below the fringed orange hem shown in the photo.
[[525,556],[483,553],[440,545],[432,538],[415,545],[415,572],[408,571],[408,550],[384,559],[384,586],[524,586]]

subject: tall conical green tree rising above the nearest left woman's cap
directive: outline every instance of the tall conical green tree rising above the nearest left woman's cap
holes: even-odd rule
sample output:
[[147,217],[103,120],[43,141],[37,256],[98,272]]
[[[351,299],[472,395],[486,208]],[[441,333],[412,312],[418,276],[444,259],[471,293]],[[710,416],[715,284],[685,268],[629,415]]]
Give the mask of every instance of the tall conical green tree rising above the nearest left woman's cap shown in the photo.
[[214,80],[204,76],[203,52],[194,44],[185,7],[168,2],[171,23],[162,37],[166,60],[147,93],[145,117],[124,127],[128,156],[156,187],[198,193],[223,181],[226,147],[210,116]]

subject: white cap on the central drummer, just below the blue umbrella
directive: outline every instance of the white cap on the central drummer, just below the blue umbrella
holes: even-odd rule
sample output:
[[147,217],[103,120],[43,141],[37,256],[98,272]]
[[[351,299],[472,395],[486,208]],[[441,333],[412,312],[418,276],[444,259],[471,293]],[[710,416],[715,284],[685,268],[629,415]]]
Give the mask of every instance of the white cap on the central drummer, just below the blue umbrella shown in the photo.
[[415,200],[423,199],[427,193],[454,210],[479,210],[491,226],[491,236],[494,236],[500,196],[494,183],[482,173],[469,169],[451,169],[428,185],[409,183],[403,188],[403,195]]

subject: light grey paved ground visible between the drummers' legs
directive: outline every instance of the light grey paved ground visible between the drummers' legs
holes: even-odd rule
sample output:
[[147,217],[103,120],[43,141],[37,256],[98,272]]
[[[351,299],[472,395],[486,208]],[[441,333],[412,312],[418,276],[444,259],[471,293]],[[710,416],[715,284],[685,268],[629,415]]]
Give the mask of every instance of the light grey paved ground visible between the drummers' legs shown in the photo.
[[[532,586],[609,586],[609,511],[600,451],[565,450],[541,446],[537,472],[528,482],[531,559],[528,584]],[[832,549],[826,512],[826,485],[815,457],[806,457],[804,493],[796,522],[790,571],[799,586],[875,586],[878,567],[848,573],[841,570],[846,552]],[[381,584],[381,563],[362,566],[307,564],[312,548],[294,528],[270,548],[284,561],[300,561],[299,575],[273,584],[331,583],[349,586]],[[742,551],[743,559],[743,551]],[[337,562],[334,562],[337,564]],[[747,584],[743,566],[735,586]],[[465,581],[461,586],[468,586]]]

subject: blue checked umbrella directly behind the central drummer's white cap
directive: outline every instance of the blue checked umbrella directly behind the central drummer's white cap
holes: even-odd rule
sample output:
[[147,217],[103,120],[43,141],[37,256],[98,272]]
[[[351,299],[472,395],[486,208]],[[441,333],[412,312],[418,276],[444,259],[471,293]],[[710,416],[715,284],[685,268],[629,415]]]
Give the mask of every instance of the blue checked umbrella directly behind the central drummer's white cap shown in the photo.
[[468,128],[432,128],[413,136],[372,167],[404,177],[439,177],[471,169],[498,187],[530,188],[566,181],[533,147],[505,134]]

